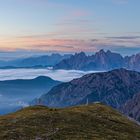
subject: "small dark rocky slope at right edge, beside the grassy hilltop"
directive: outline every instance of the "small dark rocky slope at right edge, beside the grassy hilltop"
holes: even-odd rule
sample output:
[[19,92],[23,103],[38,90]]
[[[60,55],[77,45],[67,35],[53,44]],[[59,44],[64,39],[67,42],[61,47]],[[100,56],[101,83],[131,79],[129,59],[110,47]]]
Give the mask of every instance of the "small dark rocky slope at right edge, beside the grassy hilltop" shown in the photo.
[[127,116],[140,122],[140,93],[128,100],[122,107],[121,111]]

